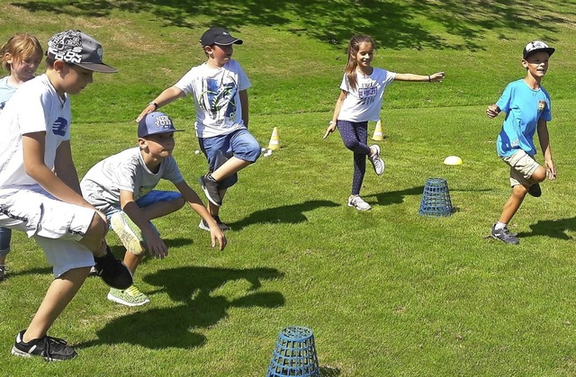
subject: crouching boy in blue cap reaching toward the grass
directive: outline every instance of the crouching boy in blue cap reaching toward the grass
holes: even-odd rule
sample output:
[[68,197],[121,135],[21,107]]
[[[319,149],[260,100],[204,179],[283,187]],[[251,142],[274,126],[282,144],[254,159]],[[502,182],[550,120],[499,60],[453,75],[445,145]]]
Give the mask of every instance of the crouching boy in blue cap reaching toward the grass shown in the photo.
[[[206,211],[202,200],[184,181],[172,151],[175,147],[174,123],[164,112],[150,112],[139,121],[138,147],[104,158],[93,166],[80,183],[85,200],[103,211],[112,230],[121,239],[126,254],[124,264],[132,274],[146,251],[157,258],[168,255],[168,248],[150,220],[178,211],[188,202],[211,232],[211,245],[226,247],[226,238]],[[178,192],[154,190],[160,179],[172,182]],[[112,288],[108,300],[128,306],[149,301],[136,285]]]

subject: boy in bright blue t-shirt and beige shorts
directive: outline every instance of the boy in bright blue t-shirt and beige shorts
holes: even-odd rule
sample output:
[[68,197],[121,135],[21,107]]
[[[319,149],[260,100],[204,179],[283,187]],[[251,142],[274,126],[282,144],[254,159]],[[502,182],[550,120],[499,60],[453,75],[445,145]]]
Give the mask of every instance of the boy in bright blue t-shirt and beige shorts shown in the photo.
[[[524,202],[526,194],[539,197],[542,194],[540,182],[546,178],[556,179],[547,126],[547,122],[552,120],[550,95],[541,85],[554,51],[542,40],[527,43],[521,61],[527,75],[506,86],[498,102],[486,110],[489,118],[506,112],[496,148],[500,158],[510,166],[512,194],[504,204],[500,219],[492,226],[491,236],[507,244],[519,243],[518,237],[509,232],[508,224]],[[536,130],[544,154],[544,166],[535,159]]]

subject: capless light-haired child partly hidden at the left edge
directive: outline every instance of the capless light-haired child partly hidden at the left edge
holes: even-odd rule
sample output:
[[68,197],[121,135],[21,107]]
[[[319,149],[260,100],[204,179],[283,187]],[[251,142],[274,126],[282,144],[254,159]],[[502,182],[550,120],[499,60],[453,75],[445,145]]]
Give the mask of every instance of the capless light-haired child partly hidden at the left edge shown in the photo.
[[[0,78],[0,112],[18,86],[34,78],[44,52],[40,41],[31,34],[17,33],[0,48],[0,62],[10,73]],[[12,229],[0,228],[0,281],[4,280],[6,255],[10,252]]]

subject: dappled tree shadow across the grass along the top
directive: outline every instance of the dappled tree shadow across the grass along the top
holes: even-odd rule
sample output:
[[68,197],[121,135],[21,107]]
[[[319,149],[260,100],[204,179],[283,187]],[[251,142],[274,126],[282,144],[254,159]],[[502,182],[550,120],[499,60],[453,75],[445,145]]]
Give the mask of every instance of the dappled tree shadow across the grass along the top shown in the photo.
[[[110,17],[114,12],[154,14],[166,25],[184,28],[227,26],[230,31],[245,25],[270,26],[296,35],[306,34],[317,40],[343,47],[351,35],[370,34],[383,46],[392,49],[484,49],[486,30],[545,30],[545,40],[557,25],[571,23],[574,11],[563,0],[539,4],[538,17],[532,16],[529,4],[518,0],[470,2],[386,1],[386,0],[293,0],[226,2],[214,12],[206,0],[43,0],[12,3],[30,12],[50,12],[75,17]],[[560,13],[562,10],[563,13]],[[191,17],[209,16],[197,24]],[[430,32],[426,25],[437,24],[454,36],[446,40]],[[500,38],[507,39],[506,35]]]

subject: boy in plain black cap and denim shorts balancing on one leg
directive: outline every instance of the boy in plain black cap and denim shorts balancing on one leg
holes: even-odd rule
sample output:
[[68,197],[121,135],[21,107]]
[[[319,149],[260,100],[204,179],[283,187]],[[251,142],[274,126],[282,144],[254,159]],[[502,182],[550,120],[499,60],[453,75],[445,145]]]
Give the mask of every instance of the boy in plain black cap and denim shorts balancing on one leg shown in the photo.
[[[238,61],[232,59],[234,44],[243,41],[222,27],[211,27],[200,38],[206,62],[192,67],[175,85],[167,88],[140,112],[139,121],[158,107],[193,95],[196,109],[194,128],[209,172],[199,178],[208,198],[208,211],[220,229],[229,226],[220,220],[220,206],[229,187],[238,182],[238,172],[260,156],[257,139],[247,130],[248,97],[251,86]],[[199,227],[208,230],[200,221]]]

